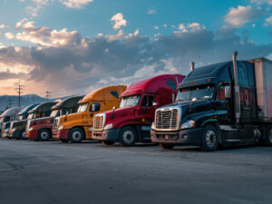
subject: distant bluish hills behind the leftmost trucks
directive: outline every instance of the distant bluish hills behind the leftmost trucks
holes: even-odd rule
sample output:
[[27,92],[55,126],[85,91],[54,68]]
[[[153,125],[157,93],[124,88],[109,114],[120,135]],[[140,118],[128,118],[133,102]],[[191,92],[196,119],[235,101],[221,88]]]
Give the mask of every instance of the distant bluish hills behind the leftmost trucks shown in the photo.
[[[18,96],[16,95],[2,95],[0,96],[0,112],[4,112],[8,107],[8,100],[12,100],[12,107],[18,106]],[[52,102],[56,99],[49,99]],[[21,96],[21,106],[26,106],[34,103],[46,102],[46,98],[38,96],[36,94],[27,94]]]

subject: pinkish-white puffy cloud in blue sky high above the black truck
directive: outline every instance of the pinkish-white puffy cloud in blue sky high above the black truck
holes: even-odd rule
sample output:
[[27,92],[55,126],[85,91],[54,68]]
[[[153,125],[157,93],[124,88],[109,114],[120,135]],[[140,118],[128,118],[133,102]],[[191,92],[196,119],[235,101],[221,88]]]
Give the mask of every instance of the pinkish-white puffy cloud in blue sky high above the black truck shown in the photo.
[[225,15],[225,22],[239,28],[261,15],[264,15],[264,13],[260,8],[253,8],[251,5],[238,5],[237,8],[232,7],[229,9],[228,14]]

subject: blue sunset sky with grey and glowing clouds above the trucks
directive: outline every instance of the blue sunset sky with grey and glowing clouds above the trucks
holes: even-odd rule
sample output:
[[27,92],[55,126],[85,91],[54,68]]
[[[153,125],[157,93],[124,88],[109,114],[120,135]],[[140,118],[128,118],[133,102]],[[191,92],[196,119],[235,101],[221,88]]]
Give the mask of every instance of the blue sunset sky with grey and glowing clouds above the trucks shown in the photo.
[[86,94],[235,50],[272,60],[272,0],[0,0],[0,95]]

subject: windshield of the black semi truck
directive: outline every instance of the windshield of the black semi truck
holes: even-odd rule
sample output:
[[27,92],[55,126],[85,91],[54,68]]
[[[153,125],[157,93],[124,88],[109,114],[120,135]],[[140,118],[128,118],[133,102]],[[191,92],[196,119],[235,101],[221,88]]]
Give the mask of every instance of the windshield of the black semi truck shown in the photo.
[[177,96],[177,102],[191,101],[193,98],[199,100],[209,100],[212,98],[214,87],[201,86],[201,87],[189,87],[180,89]]

